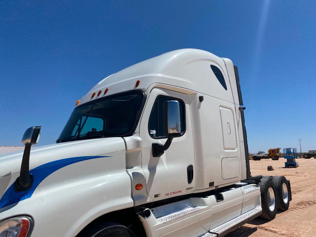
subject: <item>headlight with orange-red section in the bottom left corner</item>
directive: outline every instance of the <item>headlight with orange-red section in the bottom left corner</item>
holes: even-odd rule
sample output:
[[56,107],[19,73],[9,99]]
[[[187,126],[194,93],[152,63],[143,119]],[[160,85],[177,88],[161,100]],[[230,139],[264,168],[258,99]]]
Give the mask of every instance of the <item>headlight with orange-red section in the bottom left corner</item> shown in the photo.
[[28,237],[33,228],[28,216],[15,216],[0,221],[0,237]]

